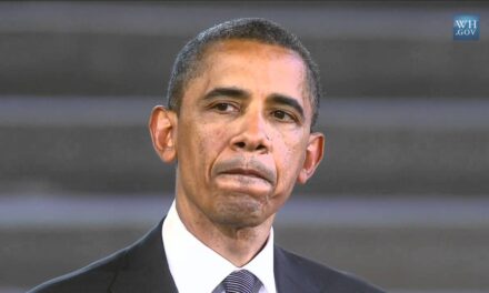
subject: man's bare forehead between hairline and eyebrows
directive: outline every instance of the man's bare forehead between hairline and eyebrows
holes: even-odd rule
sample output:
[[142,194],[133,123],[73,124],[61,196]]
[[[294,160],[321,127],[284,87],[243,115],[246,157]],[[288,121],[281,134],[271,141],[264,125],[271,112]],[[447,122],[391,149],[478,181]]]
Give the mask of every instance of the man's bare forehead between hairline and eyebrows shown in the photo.
[[199,75],[211,83],[255,79],[262,89],[268,85],[268,90],[296,92],[293,97],[310,105],[306,64],[297,52],[280,46],[253,40],[218,41],[204,50],[200,71]]

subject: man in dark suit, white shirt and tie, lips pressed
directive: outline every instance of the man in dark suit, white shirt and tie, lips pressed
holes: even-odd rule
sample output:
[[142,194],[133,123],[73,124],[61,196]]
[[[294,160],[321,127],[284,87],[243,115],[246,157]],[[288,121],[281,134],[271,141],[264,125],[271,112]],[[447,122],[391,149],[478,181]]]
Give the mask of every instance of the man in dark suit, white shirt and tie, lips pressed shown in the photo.
[[322,159],[319,74],[281,27],[239,19],[177,57],[149,129],[176,200],[142,240],[32,292],[381,292],[273,244],[272,222]]

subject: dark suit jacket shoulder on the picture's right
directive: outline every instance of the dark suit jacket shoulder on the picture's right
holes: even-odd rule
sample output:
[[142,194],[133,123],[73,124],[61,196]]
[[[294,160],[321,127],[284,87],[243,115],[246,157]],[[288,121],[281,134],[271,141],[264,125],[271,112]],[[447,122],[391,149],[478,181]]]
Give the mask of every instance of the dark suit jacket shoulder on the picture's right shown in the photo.
[[309,286],[315,292],[337,293],[382,293],[381,289],[367,281],[321,263],[311,261],[287,250],[276,246],[276,264],[285,274],[290,274],[288,282],[298,286]]

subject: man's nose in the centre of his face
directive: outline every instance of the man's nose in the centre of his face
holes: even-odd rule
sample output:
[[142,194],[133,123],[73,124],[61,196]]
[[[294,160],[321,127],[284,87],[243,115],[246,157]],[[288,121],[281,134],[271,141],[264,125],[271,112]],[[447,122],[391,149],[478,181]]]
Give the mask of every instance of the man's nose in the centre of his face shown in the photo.
[[260,113],[247,113],[240,120],[238,133],[231,139],[234,150],[247,152],[267,153],[271,151],[267,121]]

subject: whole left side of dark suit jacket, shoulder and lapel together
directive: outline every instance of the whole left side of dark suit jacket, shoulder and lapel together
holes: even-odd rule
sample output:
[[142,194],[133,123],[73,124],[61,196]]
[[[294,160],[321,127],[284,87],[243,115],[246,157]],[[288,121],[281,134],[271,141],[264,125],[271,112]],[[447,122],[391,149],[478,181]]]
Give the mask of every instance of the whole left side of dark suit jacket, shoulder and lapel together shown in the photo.
[[126,249],[29,293],[174,292],[161,241],[161,223]]

